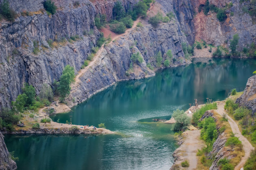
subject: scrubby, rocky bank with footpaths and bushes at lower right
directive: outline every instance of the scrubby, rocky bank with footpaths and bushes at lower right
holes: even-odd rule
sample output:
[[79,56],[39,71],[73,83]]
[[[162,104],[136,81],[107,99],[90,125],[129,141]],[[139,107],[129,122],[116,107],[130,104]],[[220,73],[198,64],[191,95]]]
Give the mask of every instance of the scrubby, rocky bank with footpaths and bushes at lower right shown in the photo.
[[[195,106],[191,107],[193,115],[189,114],[189,109],[186,111],[187,116],[192,117],[192,125],[199,130],[185,130],[175,134],[180,147],[173,154],[175,161],[172,170],[184,169],[187,166],[190,169],[202,170],[255,168],[256,152],[253,149],[256,142],[252,133],[254,127],[249,128],[243,123],[245,119],[252,121],[253,118],[249,117],[249,110],[234,103],[243,92],[236,92],[233,89],[231,94],[223,101],[202,104],[197,109]],[[176,121],[173,119],[171,123]],[[252,132],[249,133],[250,131]],[[184,166],[185,162],[188,163],[187,166]]]

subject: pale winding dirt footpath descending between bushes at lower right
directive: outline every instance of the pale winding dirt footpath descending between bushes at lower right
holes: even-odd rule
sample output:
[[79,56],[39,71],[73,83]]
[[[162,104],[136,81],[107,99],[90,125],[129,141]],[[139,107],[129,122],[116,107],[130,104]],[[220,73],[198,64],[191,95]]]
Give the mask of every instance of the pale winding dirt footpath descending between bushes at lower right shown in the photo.
[[[225,102],[220,102],[220,104],[218,105],[217,113],[221,116],[225,113],[224,105],[225,105]],[[250,156],[251,150],[254,149],[254,147],[252,147],[252,144],[241,134],[236,122],[228,115],[227,115],[227,118],[228,118],[228,123],[231,126],[232,132],[235,134],[236,137],[239,138],[239,140],[241,140],[243,144],[243,150],[245,151],[245,156],[241,158],[240,163],[236,165],[236,167],[234,168],[234,170],[240,170],[241,168],[243,168],[247,158]]]

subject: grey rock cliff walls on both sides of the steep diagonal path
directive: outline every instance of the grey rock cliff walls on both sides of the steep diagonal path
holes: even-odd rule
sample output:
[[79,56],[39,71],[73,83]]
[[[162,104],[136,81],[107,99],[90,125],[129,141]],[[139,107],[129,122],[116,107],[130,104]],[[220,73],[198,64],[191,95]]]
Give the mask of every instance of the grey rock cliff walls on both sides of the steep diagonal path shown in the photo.
[[[87,59],[91,48],[95,47],[99,32],[94,26],[94,17],[97,13],[106,14],[108,20],[112,17],[114,1],[79,0],[80,6],[75,8],[75,0],[54,0],[58,7],[56,14],[48,16],[43,8],[44,0],[9,0],[11,8],[20,13],[31,12],[31,16],[19,16],[13,23],[2,21],[0,23],[0,108],[10,107],[12,100],[20,94],[22,85],[27,82],[36,88],[37,94],[44,83],[52,85],[54,80],[61,76],[63,68],[69,64],[75,68],[77,73],[84,60]],[[0,0],[2,2],[2,0]],[[167,6],[166,2],[156,3]],[[136,0],[124,0],[122,4],[125,9],[131,8]],[[174,12],[173,7],[164,8],[164,12]],[[99,72],[88,72],[86,77],[96,79],[87,87],[85,83],[81,87],[82,93],[89,93],[111,85],[123,79],[139,79],[154,75],[152,70],[146,67],[146,62],[156,68],[155,54],[162,54],[171,49],[176,58],[172,66],[188,63],[184,59],[181,42],[187,42],[181,26],[176,18],[169,23],[162,23],[158,28],[152,28],[147,21],[143,21],[143,28],[133,30],[129,36],[121,36],[116,43],[106,45],[106,55],[101,58],[106,60],[104,65],[98,65]],[[83,32],[94,30],[91,35],[84,36]],[[61,43],[61,38],[79,35],[82,39],[73,43]],[[54,47],[50,47],[47,41],[55,40]],[[34,43],[39,44],[39,54],[33,53]],[[130,48],[134,46],[134,48]],[[13,53],[17,49],[18,54]],[[125,76],[129,69],[130,57],[134,52],[140,52],[144,62],[135,70],[137,73]],[[163,58],[165,59],[165,55]],[[158,68],[156,68],[158,69]],[[135,75],[136,74],[136,75]],[[103,76],[104,75],[104,76]],[[107,77],[107,79],[105,79]],[[100,83],[101,82],[101,83]],[[86,90],[85,90],[86,89]],[[83,91],[85,90],[85,91]],[[74,97],[74,96],[73,96]],[[79,95],[77,98],[80,98]],[[85,100],[86,96],[78,101]]]

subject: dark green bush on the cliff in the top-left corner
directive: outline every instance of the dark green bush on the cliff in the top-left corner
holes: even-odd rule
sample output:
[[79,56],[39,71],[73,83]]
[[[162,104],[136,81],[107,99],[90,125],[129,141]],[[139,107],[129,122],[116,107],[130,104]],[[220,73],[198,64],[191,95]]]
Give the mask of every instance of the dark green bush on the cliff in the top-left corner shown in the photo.
[[14,19],[17,18],[17,13],[10,9],[10,5],[7,0],[4,0],[2,4],[0,4],[0,21],[2,16],[9,21],[14,21]]

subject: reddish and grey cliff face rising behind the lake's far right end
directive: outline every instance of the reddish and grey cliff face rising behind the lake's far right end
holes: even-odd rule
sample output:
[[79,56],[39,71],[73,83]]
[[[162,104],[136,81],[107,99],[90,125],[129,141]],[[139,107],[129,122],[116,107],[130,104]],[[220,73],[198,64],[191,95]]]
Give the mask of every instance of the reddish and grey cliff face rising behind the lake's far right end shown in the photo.
[[[219,8],[224,8],[226,3],[232,2],[233,6],[226,10],[227,19],[219,22],[216,13],[210,11],[208,15],[204,15],[204,11],[198,13],[198,7],[203,5],[206,0],[192,0],[195,10],[193,18],[195,40],[205,40],[208,44],[229,46],[229,40],[234,34],[239,34],[238,49],[241,50],[247,44],[255,42],[256,24],[252,21],[248,12],[244,12],[243,8],[248,8],[249,1],[240,3],[239,0],[209,0],[210,4],[214,4]],[[233,16],[230,14],[232,13]]]

